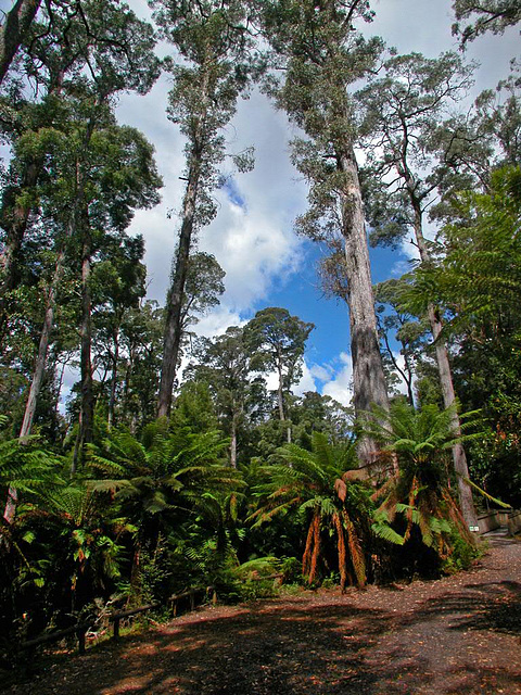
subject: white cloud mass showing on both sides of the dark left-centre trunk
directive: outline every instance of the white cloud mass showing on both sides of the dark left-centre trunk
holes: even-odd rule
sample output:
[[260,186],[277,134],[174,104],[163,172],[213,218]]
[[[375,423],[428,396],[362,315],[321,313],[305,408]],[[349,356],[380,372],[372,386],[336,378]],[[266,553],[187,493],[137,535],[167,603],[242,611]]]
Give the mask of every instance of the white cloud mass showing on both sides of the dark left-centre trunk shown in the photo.
[[[145,240],[149,296],[164,304],[177,243],[178,211],[183,195],[183,139],[165,115],[168,80],[162,77],[152,92],[142,98],[122,97],[118,110],[123,123],[145,132],[156,147],[156,161],[164,178],[162,203],[152,211],[139,211],[131,231]],[[227,129],[228,150],[237,153],[256,148],[256,166],[237,174],[229,190],[214,193],[218,204],[216,219],[200,232],[200,248],[213,253],[226,270],[226,293],[220,316],[250,313],[266,299],[274,282],[288,282],[301,263],[302,242],[293,232],[293,219],[305,204],[306,187],[294,180],[287,140],[289,126],[283,114],[258,93],[239,104]],[[238,201],[244,204],[238,204]],[[233,321],[237,323],[236,318]],[[218,324],[219,320],[216,319]]]

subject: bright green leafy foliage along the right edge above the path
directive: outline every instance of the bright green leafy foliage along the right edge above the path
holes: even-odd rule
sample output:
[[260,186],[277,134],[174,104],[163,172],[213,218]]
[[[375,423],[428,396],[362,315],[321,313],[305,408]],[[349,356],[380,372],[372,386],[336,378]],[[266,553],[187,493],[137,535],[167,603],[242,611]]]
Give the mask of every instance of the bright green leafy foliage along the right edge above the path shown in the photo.
[[456,223],[442,230],[445,254],[440,263],[415,271],[412,307],[421,311],[425,299],[434,296],[447,309],[444,331],[457,339],[456,378],[465,407],[482,408],[493,424],[491,445],[482,451],[482,468],[497,485],[494,492],[503,496],[508,491],[517,503],[520,168],[493,172],[490,192],[463,191],[458,207]]

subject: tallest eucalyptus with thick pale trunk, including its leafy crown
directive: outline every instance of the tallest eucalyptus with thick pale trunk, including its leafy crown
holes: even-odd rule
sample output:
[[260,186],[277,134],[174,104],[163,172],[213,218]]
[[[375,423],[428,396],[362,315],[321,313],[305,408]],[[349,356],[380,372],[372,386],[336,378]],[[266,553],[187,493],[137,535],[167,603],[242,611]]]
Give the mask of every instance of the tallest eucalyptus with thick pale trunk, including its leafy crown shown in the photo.
[[[260,3],[266,38],[285,80],[277,103],[306,134],[293,142],[293,159],[309,181],[309,211],[297,229],[312,239],[341,240],[348,281],[354,405],[358,417],[371,403],[387,407],[379,351],[364,206],[355,156],[356,128],[348,87],[364,78],[381,51],[377,38],[357,30],[372,14],[366,0]],[[360,458],[373,458],[374,443],[360,441]]]

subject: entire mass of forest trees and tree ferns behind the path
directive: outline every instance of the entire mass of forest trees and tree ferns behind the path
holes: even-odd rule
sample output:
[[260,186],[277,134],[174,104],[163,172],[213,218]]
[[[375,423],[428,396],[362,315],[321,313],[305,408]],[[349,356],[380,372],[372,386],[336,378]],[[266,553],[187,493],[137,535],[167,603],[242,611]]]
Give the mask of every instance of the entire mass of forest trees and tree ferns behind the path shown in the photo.
[[[519,77],[457,114],[472,66],[385,54],[359,31],[360,0],[155,0],[162,63],[124,3],[33,5],[0,36],[0,654],[191,586],[237,599],[272,573],[344,590],[465,568],[470,486],[478,506],[521,504]],[[463,43],[518,21],[494,5],[487,22],[456,0]],[[162,180],[115,112],[160,64],[187,142],[164,308],[128,231]],[[326,290],[350,311],[353,408],[295,393],[314,326],[283,307],[198,336],[226,283],[196,232],[255,80],[302,129],[296,227],[327,249]],[[421,257],[376,309],[364,217],[374,243],[414,232]]]

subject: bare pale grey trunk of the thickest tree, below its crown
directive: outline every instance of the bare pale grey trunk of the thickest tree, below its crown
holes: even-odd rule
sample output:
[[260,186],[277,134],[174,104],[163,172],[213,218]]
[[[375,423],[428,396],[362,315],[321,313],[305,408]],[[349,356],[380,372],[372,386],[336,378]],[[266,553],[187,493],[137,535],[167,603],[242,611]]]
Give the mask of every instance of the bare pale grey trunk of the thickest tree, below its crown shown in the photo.
[[[353,402],[356,417],[363,420],[372,403],[387,409],[389,399],[378,340],[358,167],[352,147],[339,156],[339,168],[345,175],[342,231],[348,280]],[[376,442],[364,438],[358,446],[360,465],[374,462],[377,452]]]

